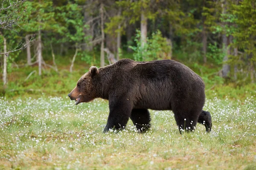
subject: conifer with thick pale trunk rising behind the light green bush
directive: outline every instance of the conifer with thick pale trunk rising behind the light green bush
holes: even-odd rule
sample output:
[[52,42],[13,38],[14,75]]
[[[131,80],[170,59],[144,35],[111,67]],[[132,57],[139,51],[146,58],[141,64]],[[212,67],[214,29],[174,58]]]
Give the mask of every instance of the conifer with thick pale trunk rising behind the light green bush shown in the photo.
[[[110,18],[110,21],[106,24],[106,32],[120,32],[123,34],[125,33],[125,27],[127,27],[127,38],[130,42],[130,34],[132,32],[131,27],[140,21],[140,38],[142,41],[140,45],[142,48],[147,41],[146,37],[148,34],[148,20],[154,25],[154,23],[158,22],[159,18],[163,18],[165,21],[164,23],[170,23],[170,26],[173,25],[172,29],[175,29],[178,27],[177,25],[180,24],[179,22],[182,22],[182,20],[180,20],[178,17],[184,15],[180,11],[179,3],[174,0],[119,0],[116,1],[116,4],[119,6],[119,8],[122,8],[122,12],[121,14]],[[161,20],[160,22],[163,23]],[[163,30],[163,27],[159,29]],[[178,30],[180,31],[180,28],[177,28],[177,31]],[[157,31],[157,28],[150,30],[151,33],[154,31]],[[172,45],[171,39],[169,39],[169,45]]]

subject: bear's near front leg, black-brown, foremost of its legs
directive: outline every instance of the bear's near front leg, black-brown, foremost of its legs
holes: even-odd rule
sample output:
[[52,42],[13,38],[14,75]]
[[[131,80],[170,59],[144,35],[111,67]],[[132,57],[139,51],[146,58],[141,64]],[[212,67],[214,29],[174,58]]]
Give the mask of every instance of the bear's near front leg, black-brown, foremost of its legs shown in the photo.
[[110,129],[122,130],[131,116],[132,105],[128,99],[110,99],[108,122],[103,133]]

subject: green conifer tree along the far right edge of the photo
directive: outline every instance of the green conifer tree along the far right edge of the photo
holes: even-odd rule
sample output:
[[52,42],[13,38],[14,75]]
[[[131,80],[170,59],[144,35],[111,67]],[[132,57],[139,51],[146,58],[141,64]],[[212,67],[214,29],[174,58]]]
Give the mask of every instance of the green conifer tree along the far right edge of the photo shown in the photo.
[[[246,73],[240,72],[242,79],[250,79],[251,82],[255,82],[256,2],[254,0],[233,0],[231,3],[229,23],[233,25],[229,29],[234,38],[232,45],[235,48],[235,54],[230,56],[230,62],[235,64],[236,78],[238,68],[245,69]],[[250,73],[250,77],[247,73]]]

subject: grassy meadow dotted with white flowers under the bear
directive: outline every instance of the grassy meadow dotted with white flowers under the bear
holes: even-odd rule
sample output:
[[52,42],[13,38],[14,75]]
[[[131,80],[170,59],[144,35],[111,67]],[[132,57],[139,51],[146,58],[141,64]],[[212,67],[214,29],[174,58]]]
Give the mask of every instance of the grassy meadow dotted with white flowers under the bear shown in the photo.
[[171,111],[151,111],[152,128],[138,134],[129,120],[102,133],[108,101],[74,105],[66,96],[0,98],[0,169],[244,169],[256,168],[256,96],[207,99],[211,133],[197,125],[179,134]]

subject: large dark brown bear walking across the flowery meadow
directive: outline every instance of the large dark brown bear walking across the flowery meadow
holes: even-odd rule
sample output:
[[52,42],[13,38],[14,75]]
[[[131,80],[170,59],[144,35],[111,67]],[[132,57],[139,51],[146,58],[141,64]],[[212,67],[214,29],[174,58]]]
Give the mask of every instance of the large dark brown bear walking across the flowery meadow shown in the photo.
[[180,132],[194,130],[197,122],[212,128],[209,112],[203,111],[204,82],[190,68],[174,60],[135,62],[121,59],[114,64],[92,66],[68,94],[76,105],[95,98],[109,100],[104,129],[125,128],[131,118],[139,132],[150,127],[151,110],[172,110]]

